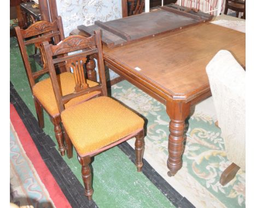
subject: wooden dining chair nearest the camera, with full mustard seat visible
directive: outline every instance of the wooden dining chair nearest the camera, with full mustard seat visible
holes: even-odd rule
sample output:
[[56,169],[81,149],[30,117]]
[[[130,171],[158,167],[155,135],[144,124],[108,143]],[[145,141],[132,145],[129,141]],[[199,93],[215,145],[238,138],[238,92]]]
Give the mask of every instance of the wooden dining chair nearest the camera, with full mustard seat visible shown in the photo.
[[[55,98],[61,112],[61,121],[66,132],[67,156],[72,157],[73,145],[82,165],[85,195],[91,200],[93,193],[89,167],[91,157],[127,139],[136,137],[136,166],[137,171],[141,171],[144,150],[144,120],[118,101],[107,96],[100,30],[94,32],[94,35],[89,38],[72,35],[58,45],[50,45],[49,42],[45,41],[43,46]],[[62,58],[54,58],[56,55],[78,50],[83,51]],[[83,76],[82,65],[86,62],[86,56],[88,55],[94,55],[97,58],[100,83],[94,87],[86,84],[86,78]],[[61,62],[66,62],[68,68],[73,69],[75,77],[73,93],[65,96],[61,95],[54,70],[54,64]],[[92,91],[100,91],[101,94],[88,101],[66,108],[65,103],[70,99],[92,93]]]

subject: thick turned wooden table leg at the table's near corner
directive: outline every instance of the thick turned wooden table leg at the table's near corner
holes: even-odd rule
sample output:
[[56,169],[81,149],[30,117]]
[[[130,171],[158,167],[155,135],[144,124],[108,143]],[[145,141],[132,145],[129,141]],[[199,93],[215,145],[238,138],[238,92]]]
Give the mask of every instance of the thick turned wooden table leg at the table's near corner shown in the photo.
[[189,103],[181,101],[167,101],[166,112],[171,122],[169,125],[170,135],[168,138],[167,167],[170,170],[168,176],[175,175],[182,167],[182,154],[184,142],[185,119],[190,112]]

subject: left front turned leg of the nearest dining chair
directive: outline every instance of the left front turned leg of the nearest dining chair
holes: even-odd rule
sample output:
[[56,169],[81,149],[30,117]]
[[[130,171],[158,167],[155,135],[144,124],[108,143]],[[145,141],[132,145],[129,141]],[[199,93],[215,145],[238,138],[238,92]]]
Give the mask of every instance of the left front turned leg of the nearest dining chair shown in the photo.
[[91,169],[89,167],[89,164],[91,162],[90,156],[80,157],[77,155],[78,161],[82,165],[82,178],[84,181],[84,188],[85,188],[85,195],[88,197],[89,200],[92,200],[92,194],[94,193],[94,190],[91,187]]

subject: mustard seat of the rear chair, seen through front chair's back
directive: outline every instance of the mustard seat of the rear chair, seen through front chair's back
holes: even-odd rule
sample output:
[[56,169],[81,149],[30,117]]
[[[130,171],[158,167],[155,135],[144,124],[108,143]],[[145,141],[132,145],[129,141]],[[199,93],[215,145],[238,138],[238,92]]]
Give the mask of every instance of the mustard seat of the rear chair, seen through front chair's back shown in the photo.
[[[60,75],[57,75],[57,79],[60,84],[60,89],[63,96],[74,92],[75,79],[74,75],[71,72],[61,73]],[[90,81],[89,79],[87,79],[87,83],[89,84],[89,87],[94,87],[98,85],[97,82]],[[51,117],[60,114],[50,78],[46,78],[43,81],[36,83],[32,90],[34,96],[37,97],[38,101],[42,104],[42,106],[44,106],[45,110],[51,115]],[[100,91],[93,91],[90,94],[75,97],[74,99],[68,101],[65,104],[65,108],[88,100],[91,97],[96,96],[100,93]]]

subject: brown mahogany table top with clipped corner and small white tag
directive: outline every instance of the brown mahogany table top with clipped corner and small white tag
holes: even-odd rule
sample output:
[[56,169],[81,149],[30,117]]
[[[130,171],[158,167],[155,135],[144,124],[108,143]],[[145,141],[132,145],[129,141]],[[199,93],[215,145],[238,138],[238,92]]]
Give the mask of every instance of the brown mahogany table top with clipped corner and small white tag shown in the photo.
[[204,23],[117,48],[104,47],[103,52],[118,72],[164,99],[188,102],[210,91],[206,65],[219,50],[230,51],[245,66],[245,38],[245,33]]

